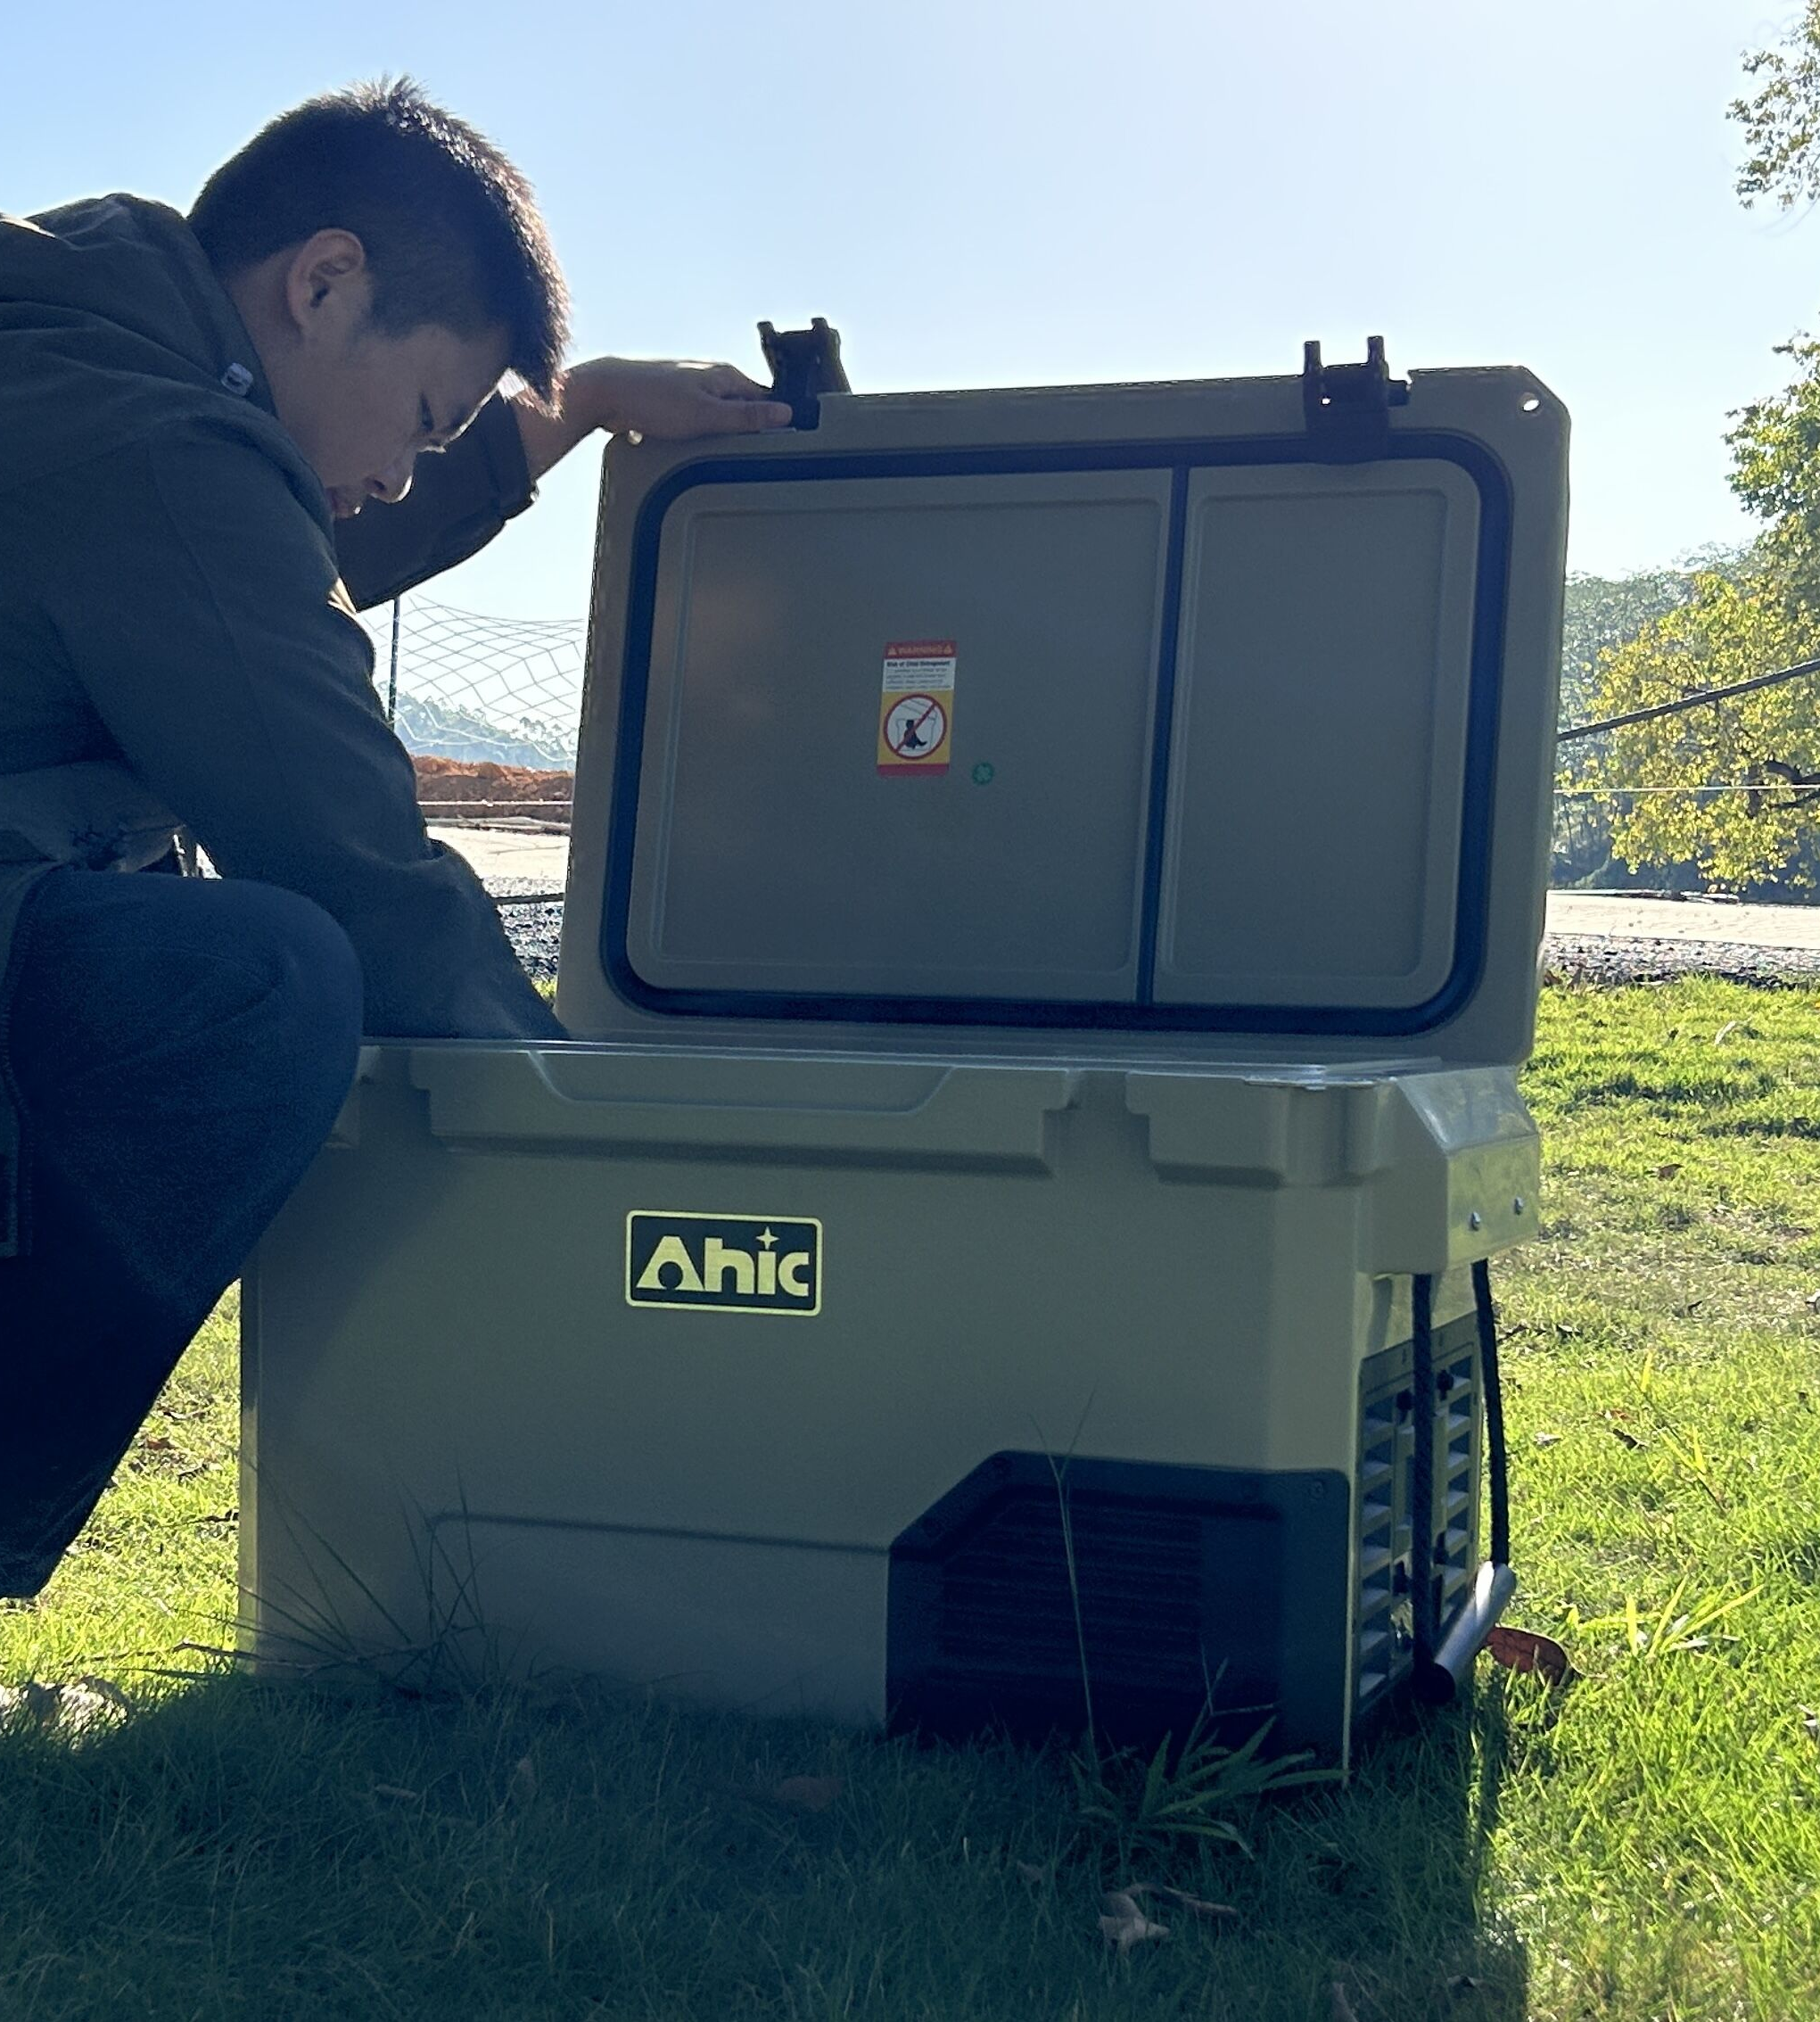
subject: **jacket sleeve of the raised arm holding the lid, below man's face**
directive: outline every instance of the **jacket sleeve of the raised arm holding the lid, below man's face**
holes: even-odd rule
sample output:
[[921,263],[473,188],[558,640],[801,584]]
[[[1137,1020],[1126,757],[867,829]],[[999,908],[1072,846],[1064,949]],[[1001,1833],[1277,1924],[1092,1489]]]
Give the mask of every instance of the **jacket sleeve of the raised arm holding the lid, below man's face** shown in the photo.
[[336,522],[342,580],[358,611],[465,562],[536,497],[512,408],[493,394],[441,453],[417,459],[396,505]]

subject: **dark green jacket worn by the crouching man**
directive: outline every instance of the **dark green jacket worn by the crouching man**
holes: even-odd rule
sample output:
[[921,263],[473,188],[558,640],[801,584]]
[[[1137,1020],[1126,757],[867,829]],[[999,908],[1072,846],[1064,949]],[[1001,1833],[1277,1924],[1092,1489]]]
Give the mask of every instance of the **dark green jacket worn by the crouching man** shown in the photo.
[[[222,876],[340,920],[370,1033],[560,1037],[475,876],[425,835],[354,617],[528,501],[491,402],[419,459],[402,505],[342,522],[338,554],[176,212],[107,196],[0,216],[0,1068],[32,884],[55,863],[138,869],[176,825]],[[0,1102],[0,1165],[10,1130]],[[6,1233],[0,1213],[0,1254]]]

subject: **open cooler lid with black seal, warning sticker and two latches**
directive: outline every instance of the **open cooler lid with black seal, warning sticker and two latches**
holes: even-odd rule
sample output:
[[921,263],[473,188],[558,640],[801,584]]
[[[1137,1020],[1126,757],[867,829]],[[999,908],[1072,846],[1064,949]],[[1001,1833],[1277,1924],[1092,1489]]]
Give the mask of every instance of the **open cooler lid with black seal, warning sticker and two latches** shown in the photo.
[[1286,378],[849,394],[815,336],[779,370],[799,427],[609,449],[570,1031],[1521,1060],[1547,388],[1397,380],[1373,340]]

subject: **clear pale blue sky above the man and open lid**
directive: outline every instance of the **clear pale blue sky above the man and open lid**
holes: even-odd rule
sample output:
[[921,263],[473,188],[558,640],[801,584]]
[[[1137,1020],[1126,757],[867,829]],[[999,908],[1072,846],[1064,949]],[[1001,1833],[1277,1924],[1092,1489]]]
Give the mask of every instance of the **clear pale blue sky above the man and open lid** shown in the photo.
[[[1745,212],[1759,0],[168,0],[16,8],[0,208],[188,204],[265,117],[411,71],[528,170],[578,352],[726,356],[827,315],[859,390],[1521,362],[1573,412],[1573,552],[1749,522],[1721,433],[1820,324],[1820,218]],[[435,594],[586,609],[597,455]]]

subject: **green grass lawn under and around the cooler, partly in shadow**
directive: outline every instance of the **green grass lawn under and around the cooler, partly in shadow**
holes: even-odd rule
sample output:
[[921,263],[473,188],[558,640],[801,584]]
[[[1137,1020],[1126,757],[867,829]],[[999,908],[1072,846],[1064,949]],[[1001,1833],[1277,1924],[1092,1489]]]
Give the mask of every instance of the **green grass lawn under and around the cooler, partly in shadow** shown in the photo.
[[[1820,2016],[1820,1007],[1551,991],[1527,1092],[1515,1620],[1567,1692],[1486,1668],[1347,1789],[1236,1804],[1250,1854],[1122,1866],[1058,1753],[271,1690],[182,1648],[233,1614],[222,1312],[0,1610],[0,1678],[138,1703],[0,1737],[0,2018],[1333,2022],[1335,1982],[1359,2022]],[[1171,1937],[1120,1957],[1132,1878],[1238,1917],[1147,1899]]]

